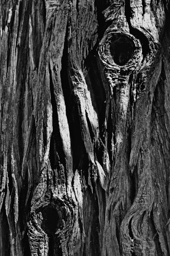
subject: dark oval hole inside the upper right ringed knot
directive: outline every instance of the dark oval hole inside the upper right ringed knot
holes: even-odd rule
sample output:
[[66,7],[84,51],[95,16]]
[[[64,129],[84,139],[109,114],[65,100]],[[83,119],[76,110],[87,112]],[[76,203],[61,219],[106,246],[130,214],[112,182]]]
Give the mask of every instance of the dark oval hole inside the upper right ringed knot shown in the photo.
[[110,45],[110,52],[117,65],[125,65],[132,57],[134,50],[135,44],[132,39],[122,34],[113,36]]

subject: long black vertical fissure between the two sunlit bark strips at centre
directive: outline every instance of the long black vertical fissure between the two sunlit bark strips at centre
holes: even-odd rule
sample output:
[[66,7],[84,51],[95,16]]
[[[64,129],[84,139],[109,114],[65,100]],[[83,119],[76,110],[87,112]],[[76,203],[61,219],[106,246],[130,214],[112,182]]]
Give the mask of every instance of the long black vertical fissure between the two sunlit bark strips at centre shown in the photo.
[[[83,143],[80,127],[80,118],[78,111],[78,100],[73,96],[72,81],[69,73],[69,54],[68,54],[68,24],[66,27],[66,35],[64,41],[64,49],[62,55],[62,68],[61,68],[61,84],[63,89],[63,95],[66,106],[66,116],[70,132],[73,171],[78,169],[79,171],[85,165],[87,153]],[[88,167],[87,167],[88,168]],[[85,167],[86,169],[86,167]],[[85,170],[84,170],[85,171]],[[86,171],[85,171],[86,172]]]

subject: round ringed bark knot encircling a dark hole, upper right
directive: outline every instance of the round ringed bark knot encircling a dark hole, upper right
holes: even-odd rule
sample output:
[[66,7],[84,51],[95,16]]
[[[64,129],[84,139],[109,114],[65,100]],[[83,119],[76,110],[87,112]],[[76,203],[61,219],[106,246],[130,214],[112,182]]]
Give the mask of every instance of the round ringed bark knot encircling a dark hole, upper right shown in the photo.
[[99,43],[98,54],[111,80],[116,79],[120,70],[126,73],[135,70],[143,59],[139,39],[126,30],[115,30],[112,25]]

